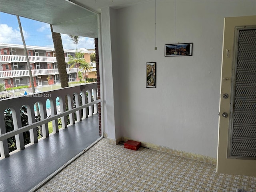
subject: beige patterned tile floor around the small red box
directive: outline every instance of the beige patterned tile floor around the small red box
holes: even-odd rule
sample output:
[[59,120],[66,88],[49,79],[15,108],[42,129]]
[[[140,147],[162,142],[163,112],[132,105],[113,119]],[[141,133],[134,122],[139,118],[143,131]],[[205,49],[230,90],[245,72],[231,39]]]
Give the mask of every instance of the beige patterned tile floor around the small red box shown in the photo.
[[256,177],[216,174],[216,166],[102,139],[37,192],[256,192]]

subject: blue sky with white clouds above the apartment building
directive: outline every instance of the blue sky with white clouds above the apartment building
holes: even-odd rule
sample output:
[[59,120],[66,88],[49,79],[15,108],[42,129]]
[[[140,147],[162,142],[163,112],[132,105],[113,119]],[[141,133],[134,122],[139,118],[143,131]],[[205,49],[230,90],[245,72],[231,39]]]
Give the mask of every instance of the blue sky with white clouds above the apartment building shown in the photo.
[[[20,17],[20,22],[26,45],[54,48],[50,24],[23,17]],[[74,45],[68,35],[61,34],[61,36],[64,49],[94,49],[93,38],[80,37],[79,44]],[[15,15],[0,12],[0,42],[22,44],[20,29]]]

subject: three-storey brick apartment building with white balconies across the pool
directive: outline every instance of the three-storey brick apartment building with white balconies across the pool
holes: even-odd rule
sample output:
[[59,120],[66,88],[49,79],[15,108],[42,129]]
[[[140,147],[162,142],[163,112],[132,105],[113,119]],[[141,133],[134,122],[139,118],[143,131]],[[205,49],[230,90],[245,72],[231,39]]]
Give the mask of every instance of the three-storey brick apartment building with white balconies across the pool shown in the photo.
[[[30,86],[23,45],[0,43],[0,50],[0,83],[4,84],[5,88]],[[78,51],[84,53],[84,59],[93,67],[88,73],[88,77],[96,78],[96,64],[90,60],[90,54],[95,53],[95,51],[85,48],[81,48]],[[27,52],[35,86],[60,83],[54,48],[27,46]],[[70,69],[70,64],[68,64],[70,58],[68,55],[74,57],[75,52],[76,50],[64,49],[69,82],[78,81],[78,72],[83,71],[83,69],[79,68],[79,64]]]

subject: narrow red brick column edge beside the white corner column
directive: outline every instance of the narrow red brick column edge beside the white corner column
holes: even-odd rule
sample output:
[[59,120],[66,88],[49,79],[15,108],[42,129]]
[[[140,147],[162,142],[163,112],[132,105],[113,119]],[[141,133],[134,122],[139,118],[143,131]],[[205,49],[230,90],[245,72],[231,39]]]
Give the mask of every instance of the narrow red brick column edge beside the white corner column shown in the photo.
[[[95,42],[95,56],[96,56],[96,74],[97,74],[97,88],[98,88],[98,99],[100,98],[100,66],[99,66],[99,49],[98,49],[98,38],[94,39]],[[99,134],[101,132],[101,105],[98,103],[98,115],[99,115]]]

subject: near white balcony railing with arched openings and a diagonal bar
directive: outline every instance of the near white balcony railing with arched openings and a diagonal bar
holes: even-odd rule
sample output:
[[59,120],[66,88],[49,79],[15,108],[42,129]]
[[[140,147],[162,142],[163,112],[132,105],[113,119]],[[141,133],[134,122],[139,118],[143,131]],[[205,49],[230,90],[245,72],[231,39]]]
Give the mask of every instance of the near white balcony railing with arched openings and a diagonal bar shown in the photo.
[[[86,94],[88,92],[88,94]],[[93,97],[94,93],[94,97]],[[58,119],[61,119],[62,128],[67,128],[67,115],[69,116],[70,124],[74,124],[76,116],[77,121],[87,118],[98,113],[97,104],[102,102],[102,99],[97,99],[97,83],[85,84],[74,87],[67,87],[58,90],[41,92],[38,94],[30,94],[28,96],[7,98],[0,100],[0,153],[1,158],[8,157],[8,138],[15,136],[17,150],[23,150],[24,138],[23,132],[30,132],[30,144],[38,142],[36,127],[42,126],[42,137],[49,137],[48,122],[52,122],[53,132],[58,132]],[[75,104],[73,103],[73,95]],[[87,96],[88,95],[88,96]],[[66,111],[67,96],[68,110]],[[81,98],[81,100],[80,100]],[[56,100],[59,100],[59,106]],[[49,102],[49,101],[50,102]],[[41,120],[35,120],[35,104],[38,103],[40,109]],[[50,107],[47,108],[47,103]],[[82,105],[80,104],[82,103]],[[28,125],[22,127],[20,118],[20,108],[26,106],[28,115]],[[11,109],[14,130],[6,133],[6,125],[4,120],[4,112],[6,109]],[[50,113],[50,117],[49,117]],[[25,149],[26,150],[26,149]]]

